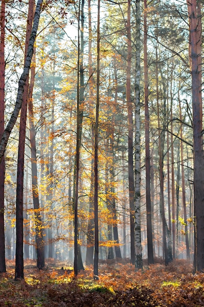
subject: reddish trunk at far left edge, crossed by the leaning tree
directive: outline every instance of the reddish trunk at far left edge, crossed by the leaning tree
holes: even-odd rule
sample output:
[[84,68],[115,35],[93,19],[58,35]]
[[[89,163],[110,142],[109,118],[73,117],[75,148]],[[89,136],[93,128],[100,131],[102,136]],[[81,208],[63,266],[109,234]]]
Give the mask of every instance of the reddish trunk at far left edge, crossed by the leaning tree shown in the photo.
[[[4,131],[4,87],[5,87],[5,0],[1,0],[0,11],[0,138]],[[5,160],[0,162],[0,273],[6,272],[5,264],[5,232],[4,232],[4,179]]]

